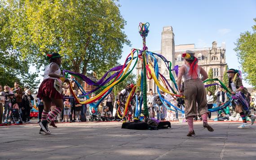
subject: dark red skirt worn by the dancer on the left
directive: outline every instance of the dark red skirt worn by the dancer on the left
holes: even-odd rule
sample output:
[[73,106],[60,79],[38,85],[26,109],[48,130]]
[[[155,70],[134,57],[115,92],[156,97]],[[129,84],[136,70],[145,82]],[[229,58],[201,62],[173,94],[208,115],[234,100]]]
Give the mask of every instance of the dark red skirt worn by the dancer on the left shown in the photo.
[[44,79],[44,81],[41,83],[39,89],[37,98],[44,99],[44,97],[54,98],[54,99],[63,99],[63,95],[60,94],[55,88],[54,88],[54,80],[55,79]]

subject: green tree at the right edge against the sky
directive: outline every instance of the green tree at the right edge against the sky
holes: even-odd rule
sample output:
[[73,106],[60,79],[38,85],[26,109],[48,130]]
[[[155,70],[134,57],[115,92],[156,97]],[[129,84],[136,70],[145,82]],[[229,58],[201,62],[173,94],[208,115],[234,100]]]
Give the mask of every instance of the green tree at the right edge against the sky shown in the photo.
[[[256,18],[253,20],[256,22]],[[256,25],[252,26],[252,32],[241,33],[235,45],[234,51],[237,52],[245,79],[252,86],[256,86]]]

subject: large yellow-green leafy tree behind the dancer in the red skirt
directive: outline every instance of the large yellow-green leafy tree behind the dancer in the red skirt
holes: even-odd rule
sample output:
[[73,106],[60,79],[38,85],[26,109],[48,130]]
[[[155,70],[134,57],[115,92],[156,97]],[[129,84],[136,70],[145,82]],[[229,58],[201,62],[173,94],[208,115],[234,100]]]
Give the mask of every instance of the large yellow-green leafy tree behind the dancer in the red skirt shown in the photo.
[[114,0],[7,1],[14,12],[6,26],[14,32],[13,48],[37,69],[48,63],[47,53],[58,52],[63,69],[103,73],[117,64],[123,45],[130,45]]

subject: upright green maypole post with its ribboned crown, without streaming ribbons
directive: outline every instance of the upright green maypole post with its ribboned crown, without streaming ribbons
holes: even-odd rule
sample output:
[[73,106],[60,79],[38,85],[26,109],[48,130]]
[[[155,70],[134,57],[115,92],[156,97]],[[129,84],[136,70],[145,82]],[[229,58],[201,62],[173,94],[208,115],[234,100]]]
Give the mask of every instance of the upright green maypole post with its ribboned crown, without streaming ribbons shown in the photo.
[[146,46],[146,36],[149,33],[148,27],[149,23],[140,23],[140,35],[142,37],[143,49],[142,49],[142,71],[143,71],[143,90],[142,90],[142,98],[143,98],[143,106],[144,106],[144,118],[149,116],[148,107],[147,107],[147,78],[146,78],[146,51],[148,50]]

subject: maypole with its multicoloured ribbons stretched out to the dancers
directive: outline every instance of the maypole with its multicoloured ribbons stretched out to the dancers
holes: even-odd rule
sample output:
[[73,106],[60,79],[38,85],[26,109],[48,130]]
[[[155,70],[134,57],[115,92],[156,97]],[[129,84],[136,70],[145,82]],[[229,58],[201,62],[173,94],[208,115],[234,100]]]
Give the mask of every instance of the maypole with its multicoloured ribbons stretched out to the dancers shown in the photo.
[[[123,109],[123,113],[121,113],[121,114],[119,114],[119,110],[121,110],[121,108],[119,106],[119,109],[117,111],[118,116],[120,118],[125,117],[126,113],[128,112],[129,103],[133,98],[133,94],[134,94],[136,88],[138,87],[141,90],[141,98],[138,99],[137,96],[135,97],[136,98],[135,117],[138,117],[141,114],[142,103],[144,106],[144,112],[143,112],[144,117],[148,117],[149,112],[148,112],[148,108],[147,108],[147,83],[146,83],[147,78],[154,80],[154,83],[157,86],[157,93],[159,95],[159,98],[162,101],[163,105],[167,109],[173,110],[173,108],[174,108],[175,110],[173,110],[173,111],[184,113],[183,110],[181,110],[177,106],[173,105],[172,103],[168,102],[167,100],[165,100],[164,98],[161,97],[160,90],[172,95],[172,97],[174,99],[176,99],[177,97],[185,98],[183,95],[177,95],[177,91],[178,91],[177,83],[175,82],[174,75],[172,74],[172,71],[174,71],[176,76],[178,75],[178,65],[174,66],[174,68],[172,69],[172,63],[170,61],[168,61],[163,55],[148,51],[148,48],[146,46],[146,36],[149,33],[148,28],[149,28],[149,23],[145,23],[145,24],[140,23],[140,25],[139,25],[139,33],[142,37],[143,49],[142,50],[132,49],[131,53],[127,56],[123,65],[119,65],[117,67],[110,69],[97,82],[94,82],[93,80],[91,80],[90,78],[88,78],[87,76],[85,76],[83,74],[71,72],[68,70],[63,71],[63,75],[66,74],[66,77],[68,77],[68,74],[70,74],[70,75],[74,76],[75,78],[80,78],[81,80],[86,82],[88,85],[97,86],[97,88],[95,88],[93,91],[89,91],[88,93],[86,93],[84,91],[84,89],[82,88],[82,86],[77,81],[74,80],[75,84],[78,86],[79,90],[82,92],[82,95],[79,97],[85,96],[87,98],[87,100],[85,100],[85,101],[80,101],[79,97],[77,97],[74,94],[72,85],[69,82],[71,93],[74,96],[75,100],[79,104],[89,104],[90,107],[97,108],[97,106],[105,99],[105,97],[108,94],[110,94],[113,87],[115,87],[120,82],[124,81],[125,78],[128,77],[128,75],[132,72],[132,70],[137,65],[137,61],[141,61],[141,65],[142,65],[142,66],[140,66],[141,67],[141,77],[139,78],[137,85],[132,88],[131,93],[128,95],[128,99],[126,101],[125,108]],[[161,59],[164,62],[164,64],[166,65],[166,68],[169,71],[170,82],[172,82],[174,84],[174,86],[175,86],[174,88],[172,88],[172,85],[170,84],[170,82],[168,82],[168,80],[162,74],[159,73],[158,59]],[[135,60],[135,63],[132,66],[132,68],[129,70],[133,60]],[[109,76],[109,74],[111,74],[111,75]],[[217,78],[208,79],[205,82],[207,82],[207,81],[219,81],[221,86],[228,93],[230,93],[228,88],[225,87],[225,85]],[[162,82],[163,86],[160,84],[160,82]],[[210,84],[210,85],[206,85],[205,87],[208,87],[211,85],[218,85],[218,84],[217,83]],[[92,94],[93,92],[94,93],[97,92],[97,95],[95,97],[89,99],[88,95]],[[229,94],[228,94],[228,96],[230,99],[232,99]],[[97,101],[97,103],[95,103],[96,101]],[[138,101],[140,101],[140,103]],[[215,112],[216,110],[220,110],[220,109],[228,106],[230,104],[230,102],[231,102],[231,100],[228,103],[224,104],[223,106],[218,107],[218,108],[212,108],[212,110],[209,110],[209,111]]]

